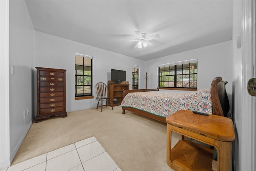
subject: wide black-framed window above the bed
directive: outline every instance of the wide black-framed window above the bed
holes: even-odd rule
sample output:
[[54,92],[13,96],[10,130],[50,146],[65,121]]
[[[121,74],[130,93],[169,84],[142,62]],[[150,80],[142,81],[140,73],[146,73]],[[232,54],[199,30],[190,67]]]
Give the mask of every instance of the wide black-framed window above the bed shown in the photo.
[[159,67],[159,87],[197,88],[197,61]]

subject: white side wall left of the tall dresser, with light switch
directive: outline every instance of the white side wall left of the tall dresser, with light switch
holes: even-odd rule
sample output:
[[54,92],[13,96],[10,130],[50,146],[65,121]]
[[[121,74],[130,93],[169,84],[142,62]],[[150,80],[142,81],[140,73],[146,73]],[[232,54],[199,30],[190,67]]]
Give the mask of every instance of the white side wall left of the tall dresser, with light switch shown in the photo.
[[[9,15],[9,67],[11,65],[15,67],[14,75],[9,73],[10,161],[12,161],[34,118],[32,68],[35,37],[34,27],[23,0],[10,1]],[[30,109],[29,114],[27,108]]]

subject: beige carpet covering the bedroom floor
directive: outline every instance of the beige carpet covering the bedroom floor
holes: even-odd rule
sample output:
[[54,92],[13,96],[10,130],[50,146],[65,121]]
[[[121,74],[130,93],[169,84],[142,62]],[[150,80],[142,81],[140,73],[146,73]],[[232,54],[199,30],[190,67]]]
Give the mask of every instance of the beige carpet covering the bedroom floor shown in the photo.
[[[95,136],[122,171],[170,171],[166,163],[166,124],[121,106],[68,112],[33,123],[12,165]],[[173,134],[172,146],[180,136]]]

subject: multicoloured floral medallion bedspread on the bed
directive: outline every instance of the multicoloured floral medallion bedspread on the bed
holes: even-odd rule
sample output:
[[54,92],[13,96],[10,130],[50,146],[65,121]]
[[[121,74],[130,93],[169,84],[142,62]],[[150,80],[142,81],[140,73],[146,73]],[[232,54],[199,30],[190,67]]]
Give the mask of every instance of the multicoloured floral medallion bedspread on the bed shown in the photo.
[[148,91],[126,94],[121,106],[132,107],[167,117],[178,110],[196,110],[212,114],[210,88],[196,92]]

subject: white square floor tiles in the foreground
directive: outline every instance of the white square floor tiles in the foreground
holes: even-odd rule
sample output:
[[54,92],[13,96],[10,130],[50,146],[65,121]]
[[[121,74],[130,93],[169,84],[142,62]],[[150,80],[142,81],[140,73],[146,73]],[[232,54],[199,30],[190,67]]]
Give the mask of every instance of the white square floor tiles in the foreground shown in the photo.
[[12,165],[1,171],[121,171],[95,137]]

